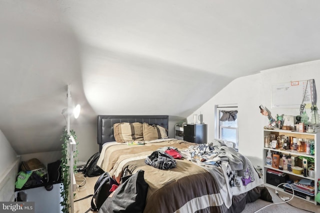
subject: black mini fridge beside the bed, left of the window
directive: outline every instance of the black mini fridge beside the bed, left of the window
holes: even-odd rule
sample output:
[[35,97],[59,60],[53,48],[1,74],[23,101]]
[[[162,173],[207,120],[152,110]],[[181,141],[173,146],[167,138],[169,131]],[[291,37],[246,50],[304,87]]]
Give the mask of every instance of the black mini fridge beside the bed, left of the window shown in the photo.
[[206,124],[183,124],[183,140],[206,144]]

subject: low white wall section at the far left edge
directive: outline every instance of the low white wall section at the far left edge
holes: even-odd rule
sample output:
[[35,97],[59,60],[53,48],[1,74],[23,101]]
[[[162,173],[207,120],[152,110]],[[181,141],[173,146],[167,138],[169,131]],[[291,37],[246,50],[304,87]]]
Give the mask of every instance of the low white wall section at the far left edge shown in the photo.
[[0,144],[0,201],[11,201],[20,161],[1,130]]

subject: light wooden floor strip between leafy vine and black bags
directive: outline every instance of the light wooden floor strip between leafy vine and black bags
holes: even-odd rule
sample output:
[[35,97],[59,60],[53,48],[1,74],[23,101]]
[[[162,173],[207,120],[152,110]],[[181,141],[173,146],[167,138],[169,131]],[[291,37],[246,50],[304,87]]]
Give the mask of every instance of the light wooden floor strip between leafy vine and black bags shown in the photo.
[[[87,195],[92,195],[94,193],[94,184],[99,177],[85,178],[85,184],[83,187],[79,187],[75,193],[74,201],[84,198]],[[75,176],[76,184],[82,185],[84,177],[81,173],[77,173]],[[87,198],[81,201],[77,201],[73,203],[73,212],[74,213],[85,213],[91,207],[91,199]],[[92,212],[89,212],[92,213]]]

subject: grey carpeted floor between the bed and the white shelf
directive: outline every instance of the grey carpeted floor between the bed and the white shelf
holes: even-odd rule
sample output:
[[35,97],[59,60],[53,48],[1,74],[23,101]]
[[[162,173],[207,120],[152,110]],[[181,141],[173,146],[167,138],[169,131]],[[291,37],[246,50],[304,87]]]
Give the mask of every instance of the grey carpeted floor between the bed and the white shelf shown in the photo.
[[[283,202],[274,192],[274,189],[268,188],[268,191],[272,197],[273,203]],[[280,190],[278,190],[280,196],[289,197],[287,194],[282,194]],[[271,203],[262,201],[258,199],[254,203],[247,204],[242,213],[255,213],[259,209],[269,205]],[[320,205],[314,205],[309,202],[305,202],[301,199],[294,198],[292,201],[284,204],[275,204],[268,206],[264,209],[258,211],[258,213],[320,213]]]

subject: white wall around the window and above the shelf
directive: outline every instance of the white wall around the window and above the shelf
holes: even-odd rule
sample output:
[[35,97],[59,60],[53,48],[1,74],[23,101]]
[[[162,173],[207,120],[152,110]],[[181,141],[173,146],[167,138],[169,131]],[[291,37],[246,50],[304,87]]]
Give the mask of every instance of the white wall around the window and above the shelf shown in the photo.
[[[297,80],[314,79],[316,88],[320,91],[320,60],[294,64],[263,70],[259,74],[241,77],[233,80],[213,98],[187,117],[192,122],[193,114],[203,114],[203,122],[208,125],[208,142],[214,135],[214,106],[237,104],[238,106],[238,140],[239,152],[251,160],[254,165],[262,165],[263,126],[268,119],[260,114],[262,104],[270,112],[276,114],[298,115],[299,109],[271,109],[271,85]],[[320,94],[320,93],[318,93]],[[290,98],[290,97],[287,97]],[[302,97],[301,97],[302,99]],[[319,95],[317,95],[319,99]],[[319,104],[318,104],[319,105]],[[306,110],[307,113],[310,109]],[[309,116],[311,118],[311,116]]]

